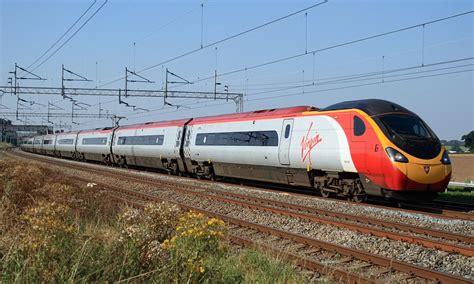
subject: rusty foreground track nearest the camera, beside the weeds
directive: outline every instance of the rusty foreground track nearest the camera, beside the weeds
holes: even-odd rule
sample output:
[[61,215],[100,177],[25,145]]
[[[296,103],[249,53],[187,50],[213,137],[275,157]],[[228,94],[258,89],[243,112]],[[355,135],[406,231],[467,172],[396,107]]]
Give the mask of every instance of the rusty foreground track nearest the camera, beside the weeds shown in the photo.
[[[90,182],[92,180],[83,179],[83,181]],[[388,281],[402,282],[406,280],[411,280],[414,283],[420,281],[426,282],[427,280],[442,283],[471,283],[469,280],[462,277],[330,244],[261,224],[232,218],[198,207],[176,203],[173,200],[159,198],[155,195],[108,184],[99,183],[97,185],[119,194],[112,195],[113,198],[137,207],[142,207],[143,203],[134,202],[133,200],[138,199],[144,202],[166,201],[178,205],[183,210],[193,210],[209,217],[219,218],[231,225],[231,234],[229,235],[230,241],[258,249],[263,248],[264,250],[273,252],[276,255],[283,255],[287,259],[294,260],[298,264],[301,264],[301,266],[306,269],[312,269],[326,274],[328,273],[329,275],[333,275],[337,280],[351,283],[386,283]],[[244,232],[241,231],[242,229]],[[236,230],[238,231],[238,235],[236,234]],[[240,236],[242,234],[251,238],[243,238]],[[269,237],[270,242],[266,241]],[[277,241],[280,242],[281,249],[274,248],[275,246],[278,247],[278,245],[275,244]],[[267,244],[265,245],[265,243]],[[268,245],[268,243],[271,245]],[[303,253],[288,253],[288,247],[292,246],[297,247],[297,250],[303,251]],[[301,254],[307,254],[307,256],[301,256]],[[324,260],[325,263],[322,261],[315,261],[315,257]],[[345,267],[346,269],[343,269],[342,267]]]

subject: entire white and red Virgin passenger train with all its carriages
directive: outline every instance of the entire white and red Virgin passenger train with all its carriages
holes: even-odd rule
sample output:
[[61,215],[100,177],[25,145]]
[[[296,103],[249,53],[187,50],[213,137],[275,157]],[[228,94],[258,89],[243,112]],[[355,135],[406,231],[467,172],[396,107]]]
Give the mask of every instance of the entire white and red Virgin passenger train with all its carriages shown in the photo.
[[448,153],[414,112],[380,99],[29,137],[24,151],[199,179],[312,188],[323,197],[433,199]]

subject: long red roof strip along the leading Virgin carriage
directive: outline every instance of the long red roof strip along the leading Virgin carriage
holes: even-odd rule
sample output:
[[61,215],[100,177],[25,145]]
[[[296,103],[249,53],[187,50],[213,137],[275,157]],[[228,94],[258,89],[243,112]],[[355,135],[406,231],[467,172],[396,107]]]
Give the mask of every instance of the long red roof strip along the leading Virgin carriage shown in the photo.
[[193,119],[189,125],[213,123],[213,122],[226,122],[226,121],[268,119],[268,118],[274,118],[274,117],[277,118],[277,117],[290,116],[290,115],[294,115],[296,113],[302,113],[305,111],[315,111],[315,110],[318,110],[318,109],[312,106],[295,106],[295,107],[288,107],[288,108],[263,109],[263,110],[256,110],[256,111],[250,111],[250,112],[244,112],[244,113],[204,116],[204,117],[197,117]]

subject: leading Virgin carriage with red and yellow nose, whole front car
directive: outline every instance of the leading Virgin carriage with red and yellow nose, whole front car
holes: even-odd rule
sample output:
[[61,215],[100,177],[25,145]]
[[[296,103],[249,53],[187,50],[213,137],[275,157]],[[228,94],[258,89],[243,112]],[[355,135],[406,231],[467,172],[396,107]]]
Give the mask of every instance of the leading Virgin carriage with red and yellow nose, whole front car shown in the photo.
[[367,194],[429,199],[451,175],[423,120],[383,100],[197,118],[184,154],[198,176],[311,186],[357,201]]

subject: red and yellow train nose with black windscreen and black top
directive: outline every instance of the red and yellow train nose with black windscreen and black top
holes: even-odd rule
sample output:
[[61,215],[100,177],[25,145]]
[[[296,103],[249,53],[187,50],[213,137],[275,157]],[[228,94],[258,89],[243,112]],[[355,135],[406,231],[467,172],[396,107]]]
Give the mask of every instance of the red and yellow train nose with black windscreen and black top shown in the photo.
[[419,116],[384,100],[343,102],[323,111],[341,110],[352,116],[344,131],[366,194],[429,200],[445,190],[448,154]]

